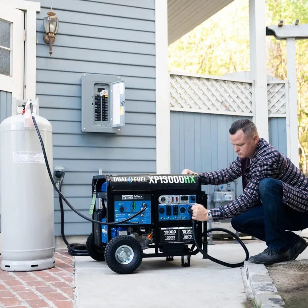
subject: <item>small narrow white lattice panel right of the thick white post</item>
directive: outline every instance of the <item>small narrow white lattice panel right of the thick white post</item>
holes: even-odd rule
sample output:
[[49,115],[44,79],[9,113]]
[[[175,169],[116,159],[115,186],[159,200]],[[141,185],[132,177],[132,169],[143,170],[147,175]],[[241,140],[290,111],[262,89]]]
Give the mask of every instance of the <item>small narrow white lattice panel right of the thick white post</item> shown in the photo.
[[287,83],[270,83],[267,85],[269,114],[286,113],[286,85]]

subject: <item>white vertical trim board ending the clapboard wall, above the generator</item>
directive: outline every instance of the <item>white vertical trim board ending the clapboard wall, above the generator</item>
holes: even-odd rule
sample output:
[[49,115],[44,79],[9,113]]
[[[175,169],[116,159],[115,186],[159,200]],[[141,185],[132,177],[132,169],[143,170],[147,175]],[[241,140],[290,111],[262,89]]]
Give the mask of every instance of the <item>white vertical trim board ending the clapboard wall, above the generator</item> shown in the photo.
[[169,174],[171,163],[167,0],[155,0],[155,42],[156,173]]

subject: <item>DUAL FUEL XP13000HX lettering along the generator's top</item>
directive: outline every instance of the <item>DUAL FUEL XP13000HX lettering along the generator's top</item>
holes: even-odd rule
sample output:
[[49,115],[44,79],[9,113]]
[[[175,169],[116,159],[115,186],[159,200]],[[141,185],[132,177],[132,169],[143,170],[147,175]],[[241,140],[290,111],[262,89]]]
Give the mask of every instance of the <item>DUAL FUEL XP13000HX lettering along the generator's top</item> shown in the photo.
[[113,177],[114,182],[148,182],[149,184],[192,184],[196,183],[195,177],[193,175],[180,175],[180,176],[129,176],[129,177]]

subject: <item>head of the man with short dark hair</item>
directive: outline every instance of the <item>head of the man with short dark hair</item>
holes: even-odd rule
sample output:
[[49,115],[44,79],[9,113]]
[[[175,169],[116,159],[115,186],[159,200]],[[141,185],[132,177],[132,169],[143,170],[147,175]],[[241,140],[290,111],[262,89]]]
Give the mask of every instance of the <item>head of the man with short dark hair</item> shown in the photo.
[[259,141],[256,125],[248,119],[237,120],[231,124],[229,133],[237,155],[252,158]]

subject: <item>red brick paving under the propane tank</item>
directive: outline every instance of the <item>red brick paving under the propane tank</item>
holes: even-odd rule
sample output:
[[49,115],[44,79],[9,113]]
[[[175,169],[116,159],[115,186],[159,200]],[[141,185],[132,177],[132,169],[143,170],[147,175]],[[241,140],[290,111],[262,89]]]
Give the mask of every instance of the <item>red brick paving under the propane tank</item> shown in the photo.
[[73,257],[56,252],[55,267],[33,272],[0,270],[0,307],[73,308]]

